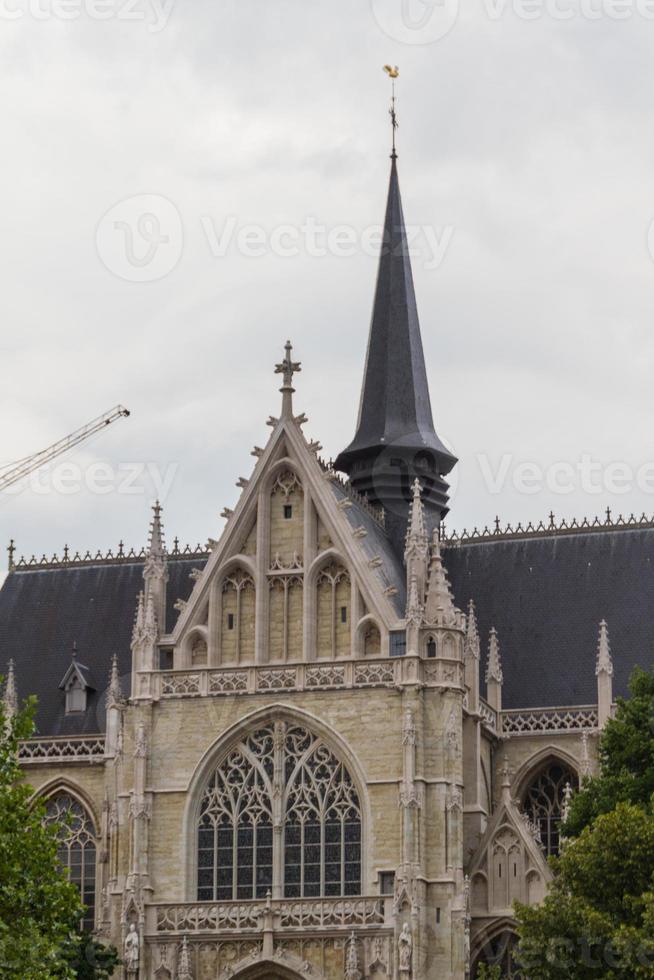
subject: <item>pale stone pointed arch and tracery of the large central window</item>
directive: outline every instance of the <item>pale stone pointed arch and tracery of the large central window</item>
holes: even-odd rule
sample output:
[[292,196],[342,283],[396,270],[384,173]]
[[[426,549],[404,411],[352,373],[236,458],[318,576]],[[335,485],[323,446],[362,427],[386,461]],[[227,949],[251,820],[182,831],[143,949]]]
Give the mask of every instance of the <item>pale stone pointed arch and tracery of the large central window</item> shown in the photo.
[[[190,779],[188,785],[188,791],[187,791],[187,804],[186,804],[184,818],[183,818],[183,832],[180,841],[181,846],[183,848],[183,853],[181,854],[181,859],[182,859],[181,866],[185,867],[186,869],[186,895],[188,901],[198,900],[197,889],[198,889],[198,871],[201,867],[200,860],[204,860],[205,862],[207,862],[204,865],[205,867],[209,866],[208,856],[205,856],[205,858],[203,859],[200,859],[199,857],[199,853],[197,850],[198,843],[199,843],[197,839],[197,832],[198,832],[199,821],[202,819],[203,816],[203,806],[207,798],[206,797],[207,786],[212,778],[212,774],[216,772],[216,770],[225,762],[225,760],[232,758],[232,754],[241,754],[241,755],[243,754],[242,753],[243,740],[247,739],[247,737],[250,734],[256,733],[257,731],[263,731],[263,729],[266,728],[266,726],[268,726],[269,728],[270,726],[272,726],[271,729],[272,733],[268,737],[274,738],[276,732],[278,732],[278,729],[275,729],[274,727],[275,722],[281,722],[287,726],[287,732],[289,734],[289,737],[292,737],[296,740],[301,739],[302,737],[301,732],[304,732],[305,735],[309,735],[310,738],[313,740],[311,746],[309,746],[307,743],[307,748],[308,749],[310,748],[309,754],[310,755],[313,755],[314,753],[316,754],[316,760],[315,760],[316,765],[319,766],[322,760],[325,766],[324,772],[321,771],[320,773],[318,773],[318,781],[320,782],[321,780],[323,780],[323,788],[325,789],[325,793],[327,794],[323,798],[323,802],[325,800],[327,801],[327,803],[323,806],[323,816],[325,817],[329,816],[330,806],[332,806],[332,808],[340,807],[341,810],[339,811],[339,819],[342,818],[342,820],[345,823],[347,823],[348,822],[347,815],[349,811],[347,811],[347,801],[345,797],[348,792],[354,794],[353,798],[356,799],[359,808],[359,827],[360,827],[359,840],[355,841],[354,839],[350,839],[346,841],[344,836],[339,844],[339,846],[341,847],[340,860],[341,860],[342,872],[344,876],[342,879],[341,891],[343,892],[344,895],[365,893],[364,883],[367,881],[365,876],[368,873],[367,842],[369,837],[369,828],[371,826],[371,817],[370,817],[370,803],[369,803],[367,789],[366,789],[366,780],[361,770],[361,766],[358,762],[358,759],[354,754],[354,752],[352,751],[352,749],[350,748],[350,746],[342,739],[342,737],[338,735],[336,732],[334,732],[327,725],[325,725],[324,722],[320,721],[320,719],[316,718],[314,715],[311,715],[309,712],[291,706],[287,706],[284,704],[277,704],[268,707],[263,707],[254,712],[251,712],[250,714],[242,718],[240,721],[238,721],[236,724],[234,724],[222,736],[216,739],[214,744],[211,746],[210,749],[207,750],[203,758],[198,763],[195,772],[193,773]],[[317,750],[320,751],[318,752]],[[275,756],[271,758],[274,760]],[[241,763],[236,758],[234,761],[236,764],[236,768],[238,769]],[[268,765],[268,770],[266,771],[264,769],[265,779],[263,777],[261,767],[258,766],[259,772],[261,774],[261,779],[259,782],[264,789],[267,789],[268,792],[271,792],[272,771],[270,770],[270,763],[267,763],[267,765]],[[293,786],[299,786],[299,791],[295,794],[293,802],[297,803],[297,805],[299,806],[298,812],[302,812],[303,819],[304,819],[306,817],[306,814],[310,811],[312,805],[312,802],[308,796],[308,794],[310,795],[310,792],[308,790],[308,783],[311,782],[311,780],[302,777],[302,779],[304,779],[304,783],[302,783],[302,779],[300,780],[299,784],[294,782],[294,779],[296,778],[296,775],[300,773],[301,768],[302,768],[301,764],[296,762],[293,772],[289,770],[286,773],[286,784],[285,784],[285,789],[283,794],[283,805],[284,805],[284,812],[286,812],[285,811],[286,804],[287,802],[289,802],[290,797],[293,795],[291,792]],[[239,776],[239,779],[241,779],[241,776]],[[348,787],[351,787],[351,790],[348,790]],[[209,829],[209,828],[206,827],[205,829]],[[330,831],[330,833],[333,833],[333,831]],[[348,833],[347,828],[344,827],[343,835],[346,835],[347,833]],[[350,832],[350,836],[352,836],[352,833],[355,834],[356,832],[354,831]],[[302,835],[300,834],[300,837],[301,836]],[[206,844],[205,850],[208,851],[211,849],[209,846],[208,834],[205,835],[205,837],[206,840],[204,840],[203,843]],[[217,844],[217,839],[215,843]],[[324,834],[323,834],[322,843],[323,844],[325,843]],[[338,842],[334,841],[334,843],[336,844]],[[347,856],[346,849],[345,849],[346,843],[351,843],[351,844],[358,843],[358,855],[359,855],[358,862],[360,868],[360,872],[359,872],[360,877],[358,879],[358,887],[356,890],[352,890],[353,874],[351,872],[353,871],[353,869],[349,869],[348,871],[348,869],[345,867],[345,865],[348,863],[349,864],[354,863],[353,861],[349,861],[349,862],[345,861],[345,857]],[[227,835],[225,835],[224,844],[225,846],[229,844],[229,842],[227,841]],[[289,846],[294,846],[294,847],[303,847],[305,844],[309,846],[310,841],[308,840],[304,841],[303,839],[301,839],[297,844],[291,844],[291,842],[289,841]],[[234,846],[233,841],[232,841],[232,846]],[[268,845],[264,844],[262,846],[267,847]],[[277,849],[279,848],[279,846],[281,845],[275,845]],[[356,848],[350,848],[348,853],[353,853],[354,851],[356,851]],[[279,853],[280,852],[278,850],[278,853],[276,855],[276,860],[278,861],[278,863],[276,865],[276,868],[273,869],[273,877],[274,877],[273,894],[276,896],[281,896],[285,887],[284,864],[279,859]],[[290,856],[295,857],[298,855],[293,854]],[[303,860],[302,855],[299,856]],[[329,857],[330,855],[327,854],[326,856]],[[264,859],[267,860],[268,855],[264,854],[263,857]],[[323,855],[323,859],[324,857],[325,855]],[[217,873],[215,871],[215,866],[216,866],[216,861],[214,861],[212,865],[212,871],[214,872],[214,875]],[[323,869],[324,867],[325,865],[323,861]],[[348,874],[349,877],[345,877]],[[237,872],[234,872],[234,875],[237,875]],[[205,878],[208,881],[208,876],[205,876]],[[236,887],[235,883],[236,883],[236,877],[233,876],[232,892],[234,892],[235,890],[238,892],[238,888]],[[321,887],[324,885],[324,883],[325,883],[325,878],[323,875],[321,877]],[[346,883],[348,884],[348,887],[346,887]],[[203,887],[209,888],[210,886],[207,883],[204,884]],[[213,887],[213,885],[211,887]],[[267,890],[267,887],[268,884],[266,883],[265,890]],[[264,894],[265,894],[265,890],[263,892]],[[302,886],[301,890],[303,891],[305,890],[304,886]],[[243,891],[245,891],[245,889],[243,889]],[[329,894],[329,892],[327,893]]]

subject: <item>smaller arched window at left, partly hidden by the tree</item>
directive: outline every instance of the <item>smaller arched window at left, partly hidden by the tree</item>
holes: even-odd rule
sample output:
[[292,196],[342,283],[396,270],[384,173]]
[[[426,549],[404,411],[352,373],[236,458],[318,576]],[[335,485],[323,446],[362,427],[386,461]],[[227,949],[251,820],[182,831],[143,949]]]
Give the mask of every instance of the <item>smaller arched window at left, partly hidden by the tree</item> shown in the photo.
[[46,824],[56,824],[57,855],[70,880],[79,889],[86,912],[82,925],[93,929],[95,921],[95,828],[86,809],[70,793],[61,792],[46,801]]

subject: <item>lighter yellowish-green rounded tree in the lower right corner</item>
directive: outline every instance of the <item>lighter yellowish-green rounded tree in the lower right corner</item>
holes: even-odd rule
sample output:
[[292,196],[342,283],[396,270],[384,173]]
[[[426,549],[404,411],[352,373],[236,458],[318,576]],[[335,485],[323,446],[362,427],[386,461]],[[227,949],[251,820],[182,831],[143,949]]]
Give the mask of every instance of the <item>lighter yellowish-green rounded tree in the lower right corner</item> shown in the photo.
[[518,905],[530,980],[654,977],[654,817],[618,803],[553,859],[550,893]]

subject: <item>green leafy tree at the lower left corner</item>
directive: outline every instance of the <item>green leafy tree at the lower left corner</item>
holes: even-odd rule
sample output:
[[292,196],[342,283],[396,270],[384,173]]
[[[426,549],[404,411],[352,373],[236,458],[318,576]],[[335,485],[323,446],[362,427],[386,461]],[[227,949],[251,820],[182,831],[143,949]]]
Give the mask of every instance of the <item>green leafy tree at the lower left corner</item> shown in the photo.
[[7,718],[0,701],[0,977],[105,980],[118,954],[80,931],[84,907],[57,858],[57,828],[18,765],[34,710],[30,699]]

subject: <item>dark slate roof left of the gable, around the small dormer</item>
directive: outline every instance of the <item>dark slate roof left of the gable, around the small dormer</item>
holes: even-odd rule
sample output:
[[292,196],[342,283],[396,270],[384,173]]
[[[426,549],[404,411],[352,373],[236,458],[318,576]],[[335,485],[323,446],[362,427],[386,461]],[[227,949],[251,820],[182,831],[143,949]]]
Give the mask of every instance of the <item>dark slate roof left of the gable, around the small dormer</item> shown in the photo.
[[[198,558],[169,560],[169,628],[178,615],[174,603],[191,593],[191,569],[203,565]],[[0,590],[0,673],[7,661],[16,661],[19,697],[38,698],[40,734],[104,731],[104,697],[114,653],[123,690],[129,690],[132,626],[142,588],[142,562],[20,569],[7,576]],[[73,643],[97,690],[89,692],[83,715],[66,716],[59,684],[70,667]]]

